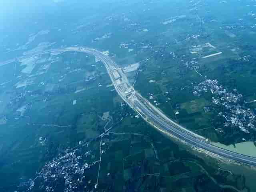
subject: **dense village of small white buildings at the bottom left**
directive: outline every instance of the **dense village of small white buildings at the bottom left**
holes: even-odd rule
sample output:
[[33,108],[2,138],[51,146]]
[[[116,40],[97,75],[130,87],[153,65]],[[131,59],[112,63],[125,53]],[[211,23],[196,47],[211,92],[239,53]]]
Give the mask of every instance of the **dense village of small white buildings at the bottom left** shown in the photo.
[[[82,143],[79,144],[81,146]],[[73,192],[81,185],[87,188],[87,190],[93,189],[94,184],[91,180],[85,178],[84,172],[86,169],[90,169],[96,162],[84,162],[83,160],[85,157],[91,156],[92,152],[88,151],[83,155],[78,155],[80,154],[79,149],[67,149],[65,152],[66,155],[54,158],[38,173],[38,178],[41,178],[44,182],[45,191],[54,192],[56,182],[60,178],[64,179],[64,192]],[[32,183],[33,187],[34,182]]]

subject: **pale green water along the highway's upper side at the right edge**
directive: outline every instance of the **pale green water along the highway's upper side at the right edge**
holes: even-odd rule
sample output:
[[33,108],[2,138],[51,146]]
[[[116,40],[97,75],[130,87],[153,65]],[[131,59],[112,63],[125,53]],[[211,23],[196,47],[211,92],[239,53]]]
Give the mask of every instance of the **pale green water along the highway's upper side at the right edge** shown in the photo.
[[256,147],[252,141],[236,143],[236,147],[234,147],[233,145],[224,145],[216,142],[211,142],[211,144],[236,153],[256,157]]

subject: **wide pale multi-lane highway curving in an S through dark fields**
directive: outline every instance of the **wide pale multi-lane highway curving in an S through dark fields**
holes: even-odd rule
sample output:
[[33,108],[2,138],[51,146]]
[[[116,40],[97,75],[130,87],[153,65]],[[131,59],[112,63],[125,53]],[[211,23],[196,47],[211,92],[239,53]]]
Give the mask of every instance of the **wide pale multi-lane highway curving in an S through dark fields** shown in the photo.
[[[142,118],[154,126],[156,129],[160,130],[164,134],[176,138],[191,146],[193,148],[202,149],[202,151],[207,152],[207,154],[212,154],[212,156],[224,158],[227,160],[234,160],[243,164],[249,164],[256,166],[256,158],[246,156],[244,154],[238,154],[229,150],[219,148],[217,146],[211,145],[208,139],[195,134],[187,130],[186,128],[180,126],[176,122],[168,118],[161,110],[152,105],[146,98],[142,97],[134,88],[129,84],[128,79],[121,68],[106,54],[91,48],[85,47],[69,47],[62,49],[46,50],[44,52],[33,53],[31,55],[22,56],[16,58],[16,60],[21,60],[23,58],[28,58],[40,54],[52,53],[52,52],[84,52],[87,54],[92,54],[97,57],[106,67],[110,79],[120,97],[126,102],[132,109],[134,109]],[[13,62],[13,60],[10,60]],[[6,61],[3,64],[8,64]],[[1,64],[0,64],[1,66]]]

